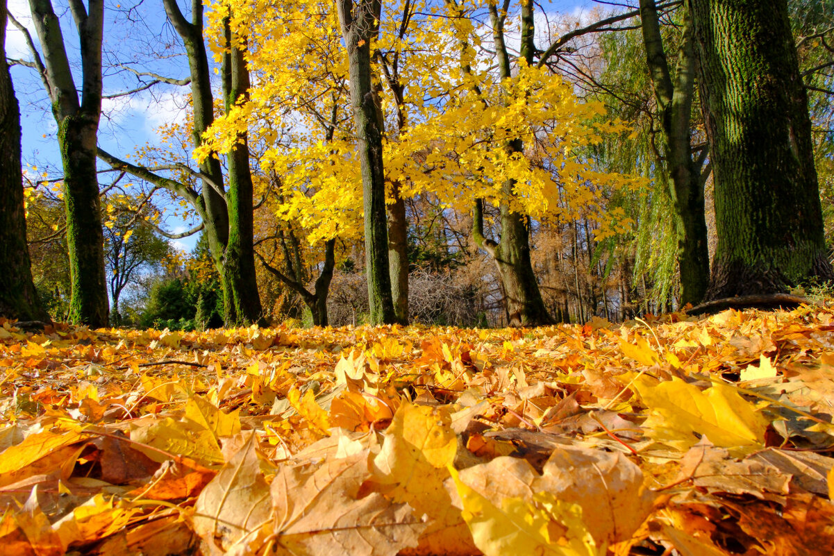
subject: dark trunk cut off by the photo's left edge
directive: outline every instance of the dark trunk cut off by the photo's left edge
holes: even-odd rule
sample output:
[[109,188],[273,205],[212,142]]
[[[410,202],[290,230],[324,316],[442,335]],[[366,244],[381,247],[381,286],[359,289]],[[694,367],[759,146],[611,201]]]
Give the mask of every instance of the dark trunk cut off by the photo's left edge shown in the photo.
[[49,321],[32,281],[20,170],[20,110],[6,63],[6,0],[0,2],[0,315]]

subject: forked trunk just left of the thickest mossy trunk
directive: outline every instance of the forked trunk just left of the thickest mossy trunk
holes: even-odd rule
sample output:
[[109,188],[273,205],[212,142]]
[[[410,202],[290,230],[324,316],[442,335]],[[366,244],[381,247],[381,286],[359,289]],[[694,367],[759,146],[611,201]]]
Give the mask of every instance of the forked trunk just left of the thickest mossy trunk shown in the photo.
[[[661,128],[665,135],[666,173],[671,178],[671,198],[678,219],[678,268],[681,273],[681,306],[701,303],[710,281],[702,169],[706,149],[693,158],[691,111],[695,96],[695,48],[691,12],[683,10],[681,47],[674,76],[663,50],[655,0],[641,0],[643,43],[651,81],[655,88]],[[708,171],[707,171],[708,172]]]

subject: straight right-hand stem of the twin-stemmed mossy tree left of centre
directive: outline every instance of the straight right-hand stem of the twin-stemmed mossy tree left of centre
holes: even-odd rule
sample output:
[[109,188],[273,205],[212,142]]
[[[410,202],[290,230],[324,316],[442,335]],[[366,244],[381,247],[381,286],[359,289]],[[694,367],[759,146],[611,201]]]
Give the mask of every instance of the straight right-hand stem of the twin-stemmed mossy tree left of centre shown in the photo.
[[[229,21],[226,21],[226,44],[230,48],[224,57],[224,93],[226,113],[235,103],[249,99],[249,70],[244,52],[234,46]],[[229,323],[263,323],[258,283],[255,279],[254,206],[252,171],[249,168],[247,133],[239,133],[229,163],[229,190],[226,193],[229,211],[229,243],[224,253],[225,282],[224,321]],[[228,293],[227,293],[228,292]]]

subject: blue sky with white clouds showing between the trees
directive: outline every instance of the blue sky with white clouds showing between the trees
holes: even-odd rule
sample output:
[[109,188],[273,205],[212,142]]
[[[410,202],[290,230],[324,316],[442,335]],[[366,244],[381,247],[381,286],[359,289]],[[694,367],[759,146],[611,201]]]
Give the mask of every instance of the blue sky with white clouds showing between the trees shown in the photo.
[[[592,0],[553,0],[544,4],[548,13],[570,13],[579,18],[589,17],[590,10],[600,6],[600,3]],[[74,33],[67,4],[65,0],[53,0],[53,6],[62,18],[64,40],[68,44],[69,55],[73,58],[78,52],[78,37]],[[601,7],[610,8],[605,5]],[[38,38],[31,26],[28,0],[8,0],[8,8],[18,21],[30,29],[37,44]],[[174,40],[173,29],[165,20],[159,0],[127,0],[124,4],[109,0],[105,7],[105,20],[104,63],[107,66],[110,62],[111,66],[105,69],[105,95],[130,90],[137,84],[133,74],[113,68],[113,61],[116,60],[135,68],[142,68],[143,71],[153,71],[172,78],[184,78],[188,75],[185,58],[175,55],[181,48],[178,48]],[[11,23],[8,25],[6,48],[8,58],[31,59],[23,42],[23,34]],[[30,167],[37,166],[38,173],[45,169],[51,177],[58,176],[61,163],[55,138],[56,126],[52,114],[49,113],[49,103],[43,86],[30,68],[13,67],[12,76],[21,108],[24,168],[27,164]],[[78,83],[80,68],[74,77]],[[155,128],[184,117],[183,95],[186,92],[185,88],[165,85],[131,97],[105,99],[104,115],[99,128],[99,145],[116,156],[124,157],[133,153],[137,145],[157,143]],[[109,183],[107,174],[103,175],[100,183]],[[167,228],[170,232],[178,233],[190,228],[190,225],[180,218],[168,218]],[[176,245],[183,250],[190,250],[196,239],[196,236],[184,238],[178,240]]]

